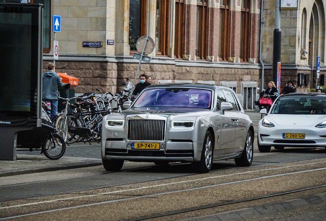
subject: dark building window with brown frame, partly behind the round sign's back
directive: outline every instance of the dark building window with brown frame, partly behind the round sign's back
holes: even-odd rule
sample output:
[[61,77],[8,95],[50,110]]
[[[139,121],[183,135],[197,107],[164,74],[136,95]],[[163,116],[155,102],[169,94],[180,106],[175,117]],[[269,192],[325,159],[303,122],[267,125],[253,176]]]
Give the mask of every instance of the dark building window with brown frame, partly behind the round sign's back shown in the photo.
[[146,34],[146,0],[130,0],[129,6],[129,46],[137,51],[138,38]]

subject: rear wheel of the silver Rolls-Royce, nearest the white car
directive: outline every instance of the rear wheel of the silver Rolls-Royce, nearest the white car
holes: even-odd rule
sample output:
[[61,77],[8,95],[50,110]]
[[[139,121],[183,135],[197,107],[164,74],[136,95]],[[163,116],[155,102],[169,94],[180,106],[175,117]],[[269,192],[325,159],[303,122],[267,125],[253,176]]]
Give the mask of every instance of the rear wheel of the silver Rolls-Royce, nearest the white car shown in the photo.
[[253,157],[254,157],[254,142],[253,142],[252,132],[249,130],[241,157],[234,159],[234,161],[237,166],[247,167],[251,165]]

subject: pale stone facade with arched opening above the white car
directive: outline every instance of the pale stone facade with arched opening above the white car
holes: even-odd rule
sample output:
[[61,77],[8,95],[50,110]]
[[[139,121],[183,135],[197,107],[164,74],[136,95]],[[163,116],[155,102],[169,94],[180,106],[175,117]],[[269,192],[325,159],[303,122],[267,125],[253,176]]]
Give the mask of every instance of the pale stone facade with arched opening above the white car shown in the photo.
[[[302,84],[297,85],[298,92],[315,88],[317,56],[320,57],[317,85],[324,86],[325,3],[324,0],[301,0],[297,10],[281,10],[281,86],[293,80],[295,84]],[[275,0],[263,1],[263,22],[261,57],[265,64],[264,85],[267,85],[272,80]],[[298,82],[300,73],[305,82]]]

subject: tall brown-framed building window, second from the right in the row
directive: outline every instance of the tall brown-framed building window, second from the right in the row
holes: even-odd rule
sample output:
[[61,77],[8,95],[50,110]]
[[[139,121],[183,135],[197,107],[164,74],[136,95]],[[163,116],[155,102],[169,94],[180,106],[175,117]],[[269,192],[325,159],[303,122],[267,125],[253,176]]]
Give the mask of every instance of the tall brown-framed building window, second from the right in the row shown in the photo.
[[230,0],[220,0],[218,57],[221,60],[228,60],[229,58],[229,32],[230,32]]

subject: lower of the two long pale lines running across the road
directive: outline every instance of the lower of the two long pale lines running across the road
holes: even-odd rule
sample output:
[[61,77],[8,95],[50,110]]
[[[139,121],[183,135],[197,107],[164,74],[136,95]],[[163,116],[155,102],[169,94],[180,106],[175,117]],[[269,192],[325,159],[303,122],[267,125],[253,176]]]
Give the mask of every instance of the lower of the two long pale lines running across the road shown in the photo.
[[297,174],[297,173],[312,172],[312,171],[318,171],[318,170],[324,170],[324,169],[326,169],[326,168],[318,168],[318,169],[311,169],[311,170],[303,170],[303,171],[297,171],[297,172],[262,176],[260,178],[253,178],[253,179],[242,180],[242,181],[234,181],[234,182],[223,183],[223,184],[215,184],[215,185],[205,186],[205,187],[196,187],[196,188],[185,189],[185,190],[175,190],[175,191],[171,191],[171,192],[156,193],[156,194],[152,194],[152,195],[135,196],[135,197],[123,198],[123,199],[112,200],[112,201],[104,201],[104,202],[99,202],[99,203],[85,204],[85,205],[79,205],[79,206],[73,206],[73,207],[66,207],[66,208],[60,208],[60,209],[53,209],[53,210],[46,210],[46,211],[41,211],[41,212],[28,213],[28,214],[23,214],[23,215],[9,216],[9,217],[0,218],[0,220],[9,219],[9,218],[16,218],[16,217],[23,217],[23,216],[29,216],[29,215],[36,215],[36,214],[42,214],[42,213],[48,213],[48,212],[62,211],[62,210],[68,210],[68,209],[75,209],[75,208],[81,208],[81,207],[87,207],[87,206],[96,206],[96,205],[101,205],[101,204],[115,203],[115,202],[121,202],[121,201],[127,201],[127,200],[136,200],[138,198],[154,197],[154,196],[159,196],[159,195],[164,195],[164,194],[172,194],[172,193],[186,192],[186,191],[191,191],[191,190],[206,189],[206,188],[210,188],[210,187],[217,187],[217,186],[223,186],[223,185],[228,185],[228,184],[243,183],[243,182],[247,182],[247,181],[274,178],[274,177],[277,177],[277,176],[292,175],[292,174]]

